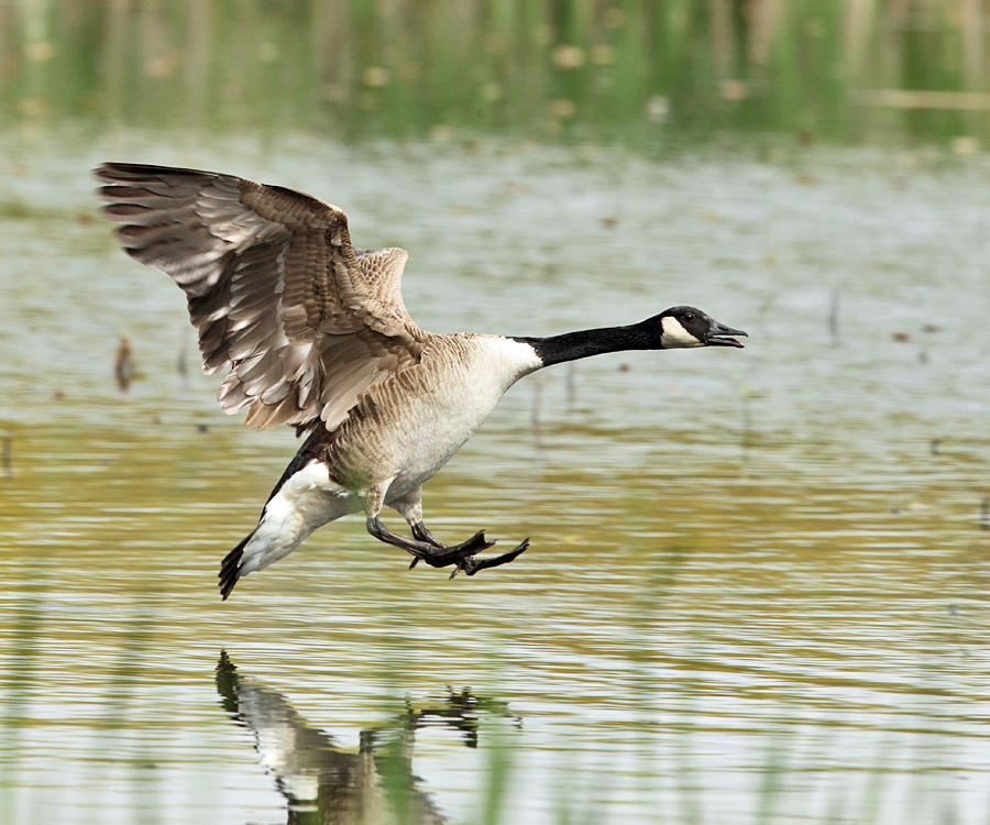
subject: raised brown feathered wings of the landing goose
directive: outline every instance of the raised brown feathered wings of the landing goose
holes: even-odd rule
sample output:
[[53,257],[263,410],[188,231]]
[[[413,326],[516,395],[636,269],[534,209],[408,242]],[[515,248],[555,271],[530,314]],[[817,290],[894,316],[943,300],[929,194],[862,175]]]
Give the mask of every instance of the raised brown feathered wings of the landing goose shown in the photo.
[[403,304],[405,250],[351,246],[346,216],[232,175],[107,163],[96,176],[121,244],[186,293],[207,373],[245,424],[332,429],[358,395],[419,362]]

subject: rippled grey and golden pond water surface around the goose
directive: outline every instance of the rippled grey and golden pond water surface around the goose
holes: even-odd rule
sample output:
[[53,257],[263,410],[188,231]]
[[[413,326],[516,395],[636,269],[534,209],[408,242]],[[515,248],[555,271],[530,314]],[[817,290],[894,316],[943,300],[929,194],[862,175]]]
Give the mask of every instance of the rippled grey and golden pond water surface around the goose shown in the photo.
[[[986,157],[35,138],[0,140],[0,818],[986,822]],[[344,520],[221,603],[296,442],[216,405],[96,216],[111,158],[339,204],[429,329],[750,338],[513,388],[426,487],[439,536],[532,537],[510,566]]]

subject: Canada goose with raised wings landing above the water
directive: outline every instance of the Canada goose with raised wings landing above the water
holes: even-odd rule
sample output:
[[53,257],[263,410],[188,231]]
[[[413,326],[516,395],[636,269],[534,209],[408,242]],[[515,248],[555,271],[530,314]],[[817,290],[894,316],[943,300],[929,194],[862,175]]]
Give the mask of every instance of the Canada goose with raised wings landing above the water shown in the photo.
[[[321,525],[363,510],[367,531],[432,566],[473,575],[515,559],[475,558],[483,530],[443,544],[422,520],[421,485],[468,440],[506,389],[550,364],[618,350],[741,346],[693,307],[628,327],[550,338],[436,334],[416,326],[399,280],[408,253],[351,245],[346,216],[280,186],[213,172],[107,163],[106,212],[129,254],[186,293],[207,373],[230,372],[218,399],[245,424],[309,436],[257,526],[224,558],[220,593],[272,564]],[[413,538],[380,518],[397,510]]]

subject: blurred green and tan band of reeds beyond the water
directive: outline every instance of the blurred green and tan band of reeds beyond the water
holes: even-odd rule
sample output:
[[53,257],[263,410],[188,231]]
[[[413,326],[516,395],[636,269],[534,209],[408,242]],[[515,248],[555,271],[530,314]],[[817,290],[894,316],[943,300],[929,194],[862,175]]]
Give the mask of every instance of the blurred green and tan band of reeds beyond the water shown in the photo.
[[986,0],[0,4],[0,110],[142,127],[986,141]]

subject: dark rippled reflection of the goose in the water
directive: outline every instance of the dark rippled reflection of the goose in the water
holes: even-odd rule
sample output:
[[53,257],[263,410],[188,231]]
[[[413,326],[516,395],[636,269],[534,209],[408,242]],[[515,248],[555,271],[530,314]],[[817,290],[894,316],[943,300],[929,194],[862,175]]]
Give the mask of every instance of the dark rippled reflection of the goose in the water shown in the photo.
[[468,689],[361,732],[352,752],[307,724],[280,693],[241,675],[227,652],[217,664],[217,690],[231,718],[254,734],[262,767],[288,803],[289,825],[373,825],[446,822],[413,773],[416,730],[444,726],[477,746],[479,714],[509,718],[504,703],[475,697]]

